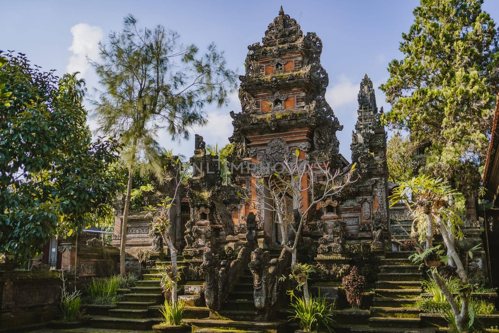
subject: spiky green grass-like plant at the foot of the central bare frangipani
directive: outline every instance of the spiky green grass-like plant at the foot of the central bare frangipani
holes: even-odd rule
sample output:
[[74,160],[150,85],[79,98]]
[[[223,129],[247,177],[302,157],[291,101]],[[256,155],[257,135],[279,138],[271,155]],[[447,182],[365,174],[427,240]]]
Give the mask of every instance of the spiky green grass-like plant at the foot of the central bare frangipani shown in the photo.
[[336,323],[332,314],[334,302],[330,303],[326,297],[313,297],[310,301],[304,298],[296,297],[292,291],[288,292],[291,295],[291,307],[294,311],[288,310],[293,316],[289,316],[290,320],[299,320],[300,327],[305,332],[319,332],[318,330],[326,330],[333,332],[332,326]]

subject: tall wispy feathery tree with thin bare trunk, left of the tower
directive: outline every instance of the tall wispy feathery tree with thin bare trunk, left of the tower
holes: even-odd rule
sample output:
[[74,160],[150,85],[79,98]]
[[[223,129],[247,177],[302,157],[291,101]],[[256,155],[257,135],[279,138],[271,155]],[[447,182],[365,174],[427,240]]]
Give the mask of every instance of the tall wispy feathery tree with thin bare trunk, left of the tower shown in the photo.
[[204,125],[207,104],[226,104],[236,87],[236,74],[226,68],[223,52],[214,44],[203,55],[194,44],[180,43],[177,32],[158,25],[137,27],[132,16],[124,19],[121,32],[109,34],[99,44],[100,61],[91,62],[104,87],[94,100],[98,132],[123,144],[128,172],[121,227],[120,271],[125,273],[125,244],[133,173],[145,161],[162,179],[163,150],[157,133],[164,130],[174,140],[189,137],[189,129]]

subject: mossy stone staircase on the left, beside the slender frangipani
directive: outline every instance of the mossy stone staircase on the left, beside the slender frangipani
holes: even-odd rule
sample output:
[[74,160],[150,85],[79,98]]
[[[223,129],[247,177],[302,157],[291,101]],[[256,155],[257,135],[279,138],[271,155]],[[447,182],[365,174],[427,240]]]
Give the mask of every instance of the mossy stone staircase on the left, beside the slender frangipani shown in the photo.
[[[188,263],[179,256],[179,268]],[[160,286],[161,265],[171,265],[171,262],[157,262],[156,268],[144,270],[141,281],[136,287],[130,288],[124,294],[124,301],[116,304],[116,309],[109,310],[109,316],[94,316],[91,326],[101,329],[127,329],[150,331],[152,325],[163,321],[159,309],[165,298]],[[186,302],[185,319],[206,318],[208,308],[204,305],[203,282],[187,282],[181,286],[179,299]]]

